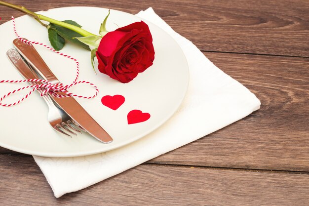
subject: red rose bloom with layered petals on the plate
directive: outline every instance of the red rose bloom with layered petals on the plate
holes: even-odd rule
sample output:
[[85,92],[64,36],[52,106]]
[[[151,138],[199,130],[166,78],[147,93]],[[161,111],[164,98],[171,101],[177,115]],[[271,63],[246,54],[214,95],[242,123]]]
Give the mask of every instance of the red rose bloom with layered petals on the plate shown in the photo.
[[100,72],[122,83],[153,65],[154,45],[148,25],[141,21],[107,33],[96,56]]

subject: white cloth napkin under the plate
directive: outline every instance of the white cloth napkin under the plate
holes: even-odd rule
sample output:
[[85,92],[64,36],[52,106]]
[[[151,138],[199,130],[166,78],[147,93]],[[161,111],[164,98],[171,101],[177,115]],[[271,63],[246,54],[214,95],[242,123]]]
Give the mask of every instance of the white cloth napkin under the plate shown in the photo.
[[261,102],[253,93],[212,64],[191,41],[173,31],[152,8],[136,15],[164,29],[183,49],[190,68],[187,95],[169,121],[127,146],[84,157],[34,156],[56,198],[193,142],[260,108]]

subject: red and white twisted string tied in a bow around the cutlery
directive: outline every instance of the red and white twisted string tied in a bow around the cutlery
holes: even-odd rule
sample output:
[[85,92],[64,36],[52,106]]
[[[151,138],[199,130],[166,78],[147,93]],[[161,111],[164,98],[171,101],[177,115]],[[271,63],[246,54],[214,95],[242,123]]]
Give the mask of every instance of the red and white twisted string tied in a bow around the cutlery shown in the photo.
[[[23,38],[21,38],[17,31],[16,31],[16,26],[15,26],[15,19],[14,17],[12,16],[11,17],[12,20],[13,20],[13,28],[14,28],[14,33],[15,35],[17,36],[17,38],[25,43],[28,43],[28,44],[39,44],[41,46],[44,46],[45,48],[48,48],[49,50],[61,55],[61,56],[64,56],[64,57],[67,57],[69,59],[72,59],[73,61],[75,61],[76,63],[76,78],[75,80],[71,83],[71,84],[68,84],[68,85],[63,85],[62,83],[57,83],[57,84],[52,84],[46,80],[38,80],[38,79],[32,79],[32,80],[0,80],[0,83],[21,83],[21,82],[41,82],[42,84],[39,84],[39,85],[29,85],[29,86],[24,86],[24,87],[21,87],[21,88],[18,88],[18,89],[15,89],[13,91],[10,91],[8,92],[7,94],[5,94],[4,96],[0,97],[0,106],[3,106],[3,107],[10,107],[10,106],[14,106],[14,105],[17,105],[19,104],[20,102],[24,101],[26,98],[28,98],[32,92],[34,92],[36,89],[41,89],[43,90],[43,92],[41,93],[41,96],[42,95],[46,95],[46,93],[49,93],[53,96],[56,96],[56,97],[59,97],[59,98],[63,98],[63,97],[78,97],[78,98],[83,98],[83,99],[91,99],[91,98],[94,98],[98,95],[99,93],[99,89],[96,85],[94,85],[93,83],[91,82],[87,82],[87,81],[78,81],[78,76],[79,76],[79,63],[77,61],[77,59],[75,59],[74,57],[72,56],[69,56],[69,55],[66,55],[64,53],[61,53],[59,51],[56,51],[55,49],[43,44],[43,43],[40,43],[40,42],[37,42],[37,41],[28,41],[28,40],[25,40]],[[93,86],[96,90],[96,93],[92,96],[82,96],[82,95],[77,95],[77,94],[74,94],[74,93],[71,93],[71,92],[68,92],[67,89],[72,87],[73,85],[76,85],[78,83],[86,83],[86,84],[89,84],[91,86]],[[21,91],[21,90],[24,90],[24,89],[27,89],[27,88],[33,88],[28,94],[26,94],[23,98],[21,98],[20,100],[18,100],[17,102],[14,102],[14,103],[10,103],[10,104],[3,104],[1,103],[1,101],[8,97],[9,95],[11,94],[14,94],[15,92],[17,91]],[[58,92],[64,92],[66,95],[61,95],[61,94],[58,94]]]

